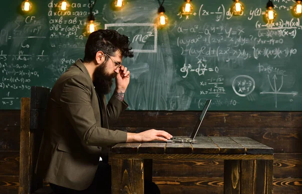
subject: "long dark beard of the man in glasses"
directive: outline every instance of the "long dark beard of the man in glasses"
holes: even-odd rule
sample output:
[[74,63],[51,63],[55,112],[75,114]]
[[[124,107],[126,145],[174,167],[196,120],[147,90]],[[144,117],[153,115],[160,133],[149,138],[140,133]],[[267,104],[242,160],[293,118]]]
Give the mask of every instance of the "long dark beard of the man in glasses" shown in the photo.
[[115,72],[109,74],[106,72],[106,65],[101,64],[96,68],[94,72],[93,84],[97,93],[107,94],[110,93],[113,84],[113,78],[115,77]]

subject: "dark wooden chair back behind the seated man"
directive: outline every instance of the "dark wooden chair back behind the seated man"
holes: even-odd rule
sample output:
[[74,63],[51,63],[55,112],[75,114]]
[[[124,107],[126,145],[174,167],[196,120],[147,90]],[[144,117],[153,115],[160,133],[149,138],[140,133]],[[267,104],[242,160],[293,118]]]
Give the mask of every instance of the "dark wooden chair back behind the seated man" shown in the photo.
[[31,97],[21,98],[19,194],[51,193],[41,192],[43,179],[35,174],[49,93],[49,88],[32,86]]

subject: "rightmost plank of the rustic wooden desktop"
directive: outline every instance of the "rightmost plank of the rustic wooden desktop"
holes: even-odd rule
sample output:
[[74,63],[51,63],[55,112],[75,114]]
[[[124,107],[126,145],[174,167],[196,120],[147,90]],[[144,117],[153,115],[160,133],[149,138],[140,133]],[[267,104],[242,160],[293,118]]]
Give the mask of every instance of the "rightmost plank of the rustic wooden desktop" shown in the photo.
[[248,137],[231,137],[246,148],[247,154],[273,154],[274,149]]

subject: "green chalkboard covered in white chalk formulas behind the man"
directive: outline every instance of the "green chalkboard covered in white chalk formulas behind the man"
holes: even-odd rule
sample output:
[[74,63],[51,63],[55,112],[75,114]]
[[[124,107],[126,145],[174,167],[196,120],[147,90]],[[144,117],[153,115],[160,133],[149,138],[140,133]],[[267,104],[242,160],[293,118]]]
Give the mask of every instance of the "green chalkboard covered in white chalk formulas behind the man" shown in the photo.
[[[78,58],[84,57],[89,1],[31,0],[34,9],[20,13],[20,1],[2,3],[0,13],[0,109],[20,109],[30,86],[51,88]],[[274,0],[277,19],[264,21],[267,1],[234,3],[194,0],[192,15],[180,12],[183,1],[166,0],[169,26],[155,25],[157,0],[127,0],[121,11],[111,1],[97,1],[98,28],[115,29],[131,41],[133,58],[125,100],[128,110],[302,111],[302,27],[290,12],[294,2]],[[94,2],[92,1],[92,4]],[[84,34],[83,34],[84,33]]]

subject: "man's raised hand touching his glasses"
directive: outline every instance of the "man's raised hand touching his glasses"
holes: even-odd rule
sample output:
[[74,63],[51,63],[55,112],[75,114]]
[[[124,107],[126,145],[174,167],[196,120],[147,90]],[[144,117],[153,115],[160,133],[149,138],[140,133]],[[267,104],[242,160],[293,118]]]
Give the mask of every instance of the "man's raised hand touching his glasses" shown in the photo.
[[117,73],[115,77],[116,90],[118,90],[118,92],[125,92],[130,82],[130,71],[123,65],[114,71]]

